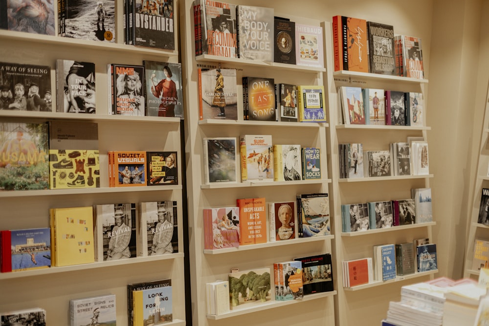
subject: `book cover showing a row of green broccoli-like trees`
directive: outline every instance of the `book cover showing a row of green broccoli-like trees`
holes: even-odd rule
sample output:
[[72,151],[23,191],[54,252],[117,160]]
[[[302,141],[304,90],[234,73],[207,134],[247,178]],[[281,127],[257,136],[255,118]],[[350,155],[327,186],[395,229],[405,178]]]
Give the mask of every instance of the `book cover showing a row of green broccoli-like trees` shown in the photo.
[[253,307],[271,300],[270,268],[257,268],[229,273],[231,310]]

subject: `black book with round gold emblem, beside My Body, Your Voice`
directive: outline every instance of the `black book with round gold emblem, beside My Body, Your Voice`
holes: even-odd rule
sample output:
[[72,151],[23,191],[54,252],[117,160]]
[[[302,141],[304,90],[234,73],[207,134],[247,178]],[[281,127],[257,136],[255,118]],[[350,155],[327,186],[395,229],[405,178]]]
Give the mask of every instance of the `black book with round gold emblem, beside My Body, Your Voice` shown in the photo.
[[273,62],[295,65],[295,22],[275,17]]

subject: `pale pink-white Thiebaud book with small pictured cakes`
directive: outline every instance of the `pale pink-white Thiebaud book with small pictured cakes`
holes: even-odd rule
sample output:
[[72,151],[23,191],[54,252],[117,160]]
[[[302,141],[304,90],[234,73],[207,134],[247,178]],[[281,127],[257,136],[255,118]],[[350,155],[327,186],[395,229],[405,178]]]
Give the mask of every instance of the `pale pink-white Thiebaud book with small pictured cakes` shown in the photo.
[[321,26],[295,24],[295,58],[297,65],[324,68]]

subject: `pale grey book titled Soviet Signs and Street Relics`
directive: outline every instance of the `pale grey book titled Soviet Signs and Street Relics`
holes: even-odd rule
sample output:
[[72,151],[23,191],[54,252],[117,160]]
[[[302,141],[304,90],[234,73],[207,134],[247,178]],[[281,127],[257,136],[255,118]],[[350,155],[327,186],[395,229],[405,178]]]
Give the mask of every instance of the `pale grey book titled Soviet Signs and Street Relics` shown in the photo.
[[70,326],[116,325],[115,294],[69,301]]

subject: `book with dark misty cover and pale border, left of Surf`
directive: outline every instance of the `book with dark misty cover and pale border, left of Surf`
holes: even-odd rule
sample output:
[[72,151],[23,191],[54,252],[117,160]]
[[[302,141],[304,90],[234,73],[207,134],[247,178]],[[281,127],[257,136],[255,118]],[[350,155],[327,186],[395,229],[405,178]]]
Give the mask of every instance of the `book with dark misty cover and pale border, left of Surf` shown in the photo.
[[238,181],[238,152],[235,137],[203,139],[204,183]]

